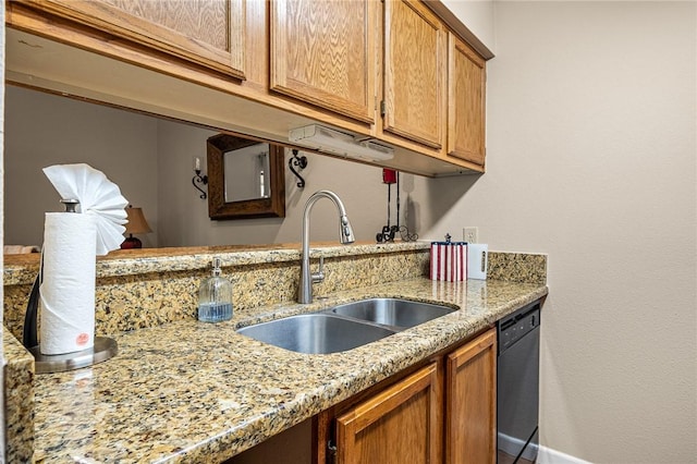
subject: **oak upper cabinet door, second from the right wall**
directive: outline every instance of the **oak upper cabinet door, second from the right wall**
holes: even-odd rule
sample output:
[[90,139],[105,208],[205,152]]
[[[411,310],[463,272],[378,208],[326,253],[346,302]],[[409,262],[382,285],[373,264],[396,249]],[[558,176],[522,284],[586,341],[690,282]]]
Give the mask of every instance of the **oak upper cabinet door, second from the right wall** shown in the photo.
[[384,2],[383,130],[432,148],[444,132],[445,33],[420,2]]

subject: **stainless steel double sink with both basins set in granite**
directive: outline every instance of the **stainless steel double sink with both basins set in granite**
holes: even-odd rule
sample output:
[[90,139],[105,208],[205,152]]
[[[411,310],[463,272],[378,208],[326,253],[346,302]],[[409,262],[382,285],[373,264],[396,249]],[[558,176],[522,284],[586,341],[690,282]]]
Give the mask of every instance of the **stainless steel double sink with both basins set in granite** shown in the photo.
[[454,310],[401,298],[369,298],[243,327],[237,333],[297,353],[328,354],[363,346]]

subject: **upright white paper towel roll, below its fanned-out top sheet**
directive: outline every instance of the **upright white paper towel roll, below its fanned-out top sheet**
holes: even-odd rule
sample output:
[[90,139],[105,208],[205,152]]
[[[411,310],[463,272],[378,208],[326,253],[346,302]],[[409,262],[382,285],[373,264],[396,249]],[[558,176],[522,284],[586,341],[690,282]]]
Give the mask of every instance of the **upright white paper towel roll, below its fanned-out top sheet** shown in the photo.
[[47,212],[40,292],[40,352],[65,354],[95,344],[96,220]]

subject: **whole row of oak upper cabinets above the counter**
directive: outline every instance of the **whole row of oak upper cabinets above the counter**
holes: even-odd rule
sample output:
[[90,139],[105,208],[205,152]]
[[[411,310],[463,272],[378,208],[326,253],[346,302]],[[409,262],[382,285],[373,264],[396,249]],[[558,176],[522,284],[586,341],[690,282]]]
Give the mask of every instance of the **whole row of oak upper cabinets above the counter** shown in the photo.
[[[69,46],[56,47],[60,60],[58,52],[46,60],[9,40],[13,83],[34,86],[40,77],[52,91],[160,108],[164,117],[187,113],[195,123],[279,143],[288,143],[289,129],[314,121],[394,147],[394,158],[377,166],[429,176],[484,171],[486,76],[478,53],[488,53],[441,2],[12,0],[5,7],[9,34]],[[85,50],[111,60],[90,66]],[[73,60],[66,74],[62,63]],[[151,71],[147,84],[105,78],[142,69]],[[222,111],[211,98],[244,109]]]

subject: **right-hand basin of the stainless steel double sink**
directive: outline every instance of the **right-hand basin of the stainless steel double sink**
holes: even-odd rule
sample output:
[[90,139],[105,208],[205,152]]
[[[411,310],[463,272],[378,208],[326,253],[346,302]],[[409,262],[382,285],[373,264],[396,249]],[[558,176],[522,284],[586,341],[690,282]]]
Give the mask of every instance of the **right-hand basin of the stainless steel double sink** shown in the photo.
[[375,323],[406,329],[418,326],[455,309],[429,303],[400,298],[370,298],[337,306],[331,313]]

